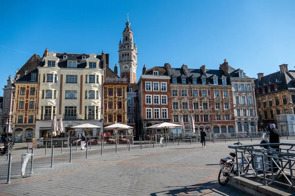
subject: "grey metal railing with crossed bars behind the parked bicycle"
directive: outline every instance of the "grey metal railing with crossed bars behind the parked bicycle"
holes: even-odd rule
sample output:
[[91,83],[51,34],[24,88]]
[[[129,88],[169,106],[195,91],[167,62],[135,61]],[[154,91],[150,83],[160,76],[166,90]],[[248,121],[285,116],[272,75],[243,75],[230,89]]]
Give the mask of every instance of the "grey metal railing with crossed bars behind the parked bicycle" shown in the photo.
[[[280,148],[271,148],[277,145]],[[237,176],[255,176],[255,179],[261,179],[264,185],[274,184],[295,188],[294,146],[295,144],[279,143],[229,146],[229,148],[236,150]]]

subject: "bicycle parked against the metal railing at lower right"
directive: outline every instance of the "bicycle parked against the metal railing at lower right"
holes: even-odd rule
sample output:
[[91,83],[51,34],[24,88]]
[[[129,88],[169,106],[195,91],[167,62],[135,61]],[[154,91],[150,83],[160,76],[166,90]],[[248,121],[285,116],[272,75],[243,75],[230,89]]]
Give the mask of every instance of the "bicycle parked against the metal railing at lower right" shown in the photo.
[[[235,143],[234,145],[242,145],[240,142]],[[225,186],[231,175],[236,175],[240,171],[240,167],[244,166],[243,172],[248,172],[249,170],[249,158],[241,158],[236,168],[236,153],[231,152],[229,157],[220,159],[220,171],[218,174],[218,183],[221,186]]]

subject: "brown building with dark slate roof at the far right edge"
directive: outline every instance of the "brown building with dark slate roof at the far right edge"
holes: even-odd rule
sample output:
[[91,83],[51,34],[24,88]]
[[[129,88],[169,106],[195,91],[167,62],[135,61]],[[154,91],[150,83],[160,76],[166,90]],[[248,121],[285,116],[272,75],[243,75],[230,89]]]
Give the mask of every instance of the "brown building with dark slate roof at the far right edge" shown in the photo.
[[288,64],[279,68],[268,75],[258,73],[254,80],[259,129],[277,124],[277,115],[295,114],[295,71],[288,70]]

